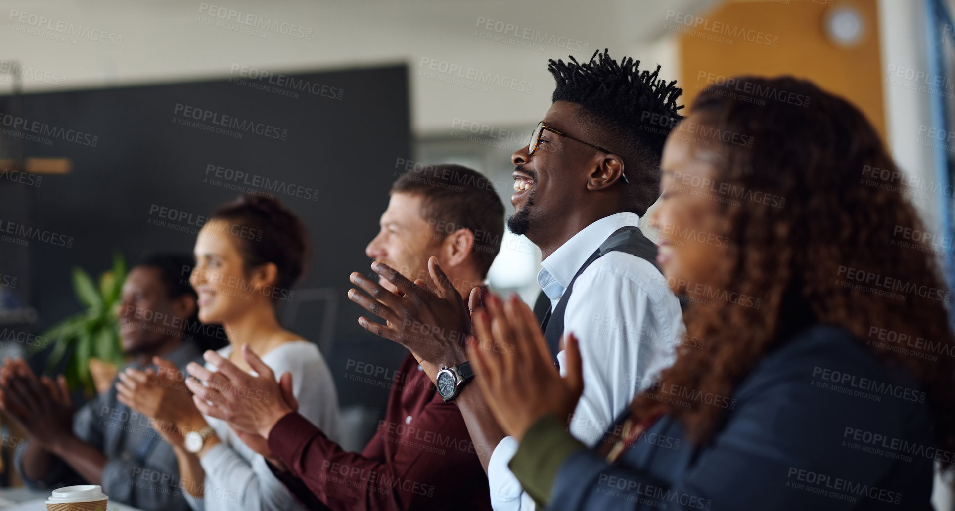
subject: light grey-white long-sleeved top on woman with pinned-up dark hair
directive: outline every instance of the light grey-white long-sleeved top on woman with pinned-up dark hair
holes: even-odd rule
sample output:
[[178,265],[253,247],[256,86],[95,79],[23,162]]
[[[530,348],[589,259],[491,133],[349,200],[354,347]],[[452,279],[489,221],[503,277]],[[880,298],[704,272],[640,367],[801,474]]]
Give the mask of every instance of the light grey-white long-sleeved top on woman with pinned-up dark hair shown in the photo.
[[[228,358],[232,346],[219,350]],[[292,373],[292,394],[299,402],[299,414],[321,428],[329,438],[339,434],[338,394],[318,347],[308,341],[291,341],[279,345],[262,356],[276,378]],[[206,364],[215,372],[216,367]],[[252,374],[256,374],[254,371]],[[258,398],[250,395],[250,398]],[[263,398],[267,398],[263,396]],[[274,398],[274,396],[272,396]],[[286,485],[277,479],[262,455],[252,451],[232,431],[227,422],[204,415],[205,420],[222,440],[209,449],[200,463],[205,471],[203,499],[185,493],[196,511],[290,511],[304,507],[295,500]]]

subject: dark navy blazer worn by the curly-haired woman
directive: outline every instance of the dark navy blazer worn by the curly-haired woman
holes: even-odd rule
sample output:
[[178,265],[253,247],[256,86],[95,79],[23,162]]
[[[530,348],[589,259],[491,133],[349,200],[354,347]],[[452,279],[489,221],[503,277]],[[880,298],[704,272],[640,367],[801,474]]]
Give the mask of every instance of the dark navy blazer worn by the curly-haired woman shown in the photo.
[[578,451],[551,508],[931,509],[933,460],[952,456],[935,448],[922,386],[831,326],[780,343],[732,398],[692,392],[668,389],[727,409],[708,444],[663,417],[613,465]]

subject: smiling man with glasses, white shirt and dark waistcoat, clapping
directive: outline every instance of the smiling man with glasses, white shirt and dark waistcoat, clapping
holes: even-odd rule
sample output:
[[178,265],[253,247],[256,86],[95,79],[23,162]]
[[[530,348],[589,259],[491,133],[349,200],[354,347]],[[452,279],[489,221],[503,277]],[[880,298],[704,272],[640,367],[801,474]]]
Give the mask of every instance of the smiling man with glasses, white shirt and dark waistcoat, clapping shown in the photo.
[[[634,395],[672,363],[684,335],[679,302],[655,267],[656,246],[637,226],[659,193],[660,158],[669,130],[681,118],[676,98],[682,90],[658,79],[659,66],[641,72],[639,62],[625,58],[618,64],[606,52],[594,53],[586,64],[570,60],[550,61],[557,81],[553,104],[529,145],[511,157],[517,192],[507,226],[541,248],[538,282],[551,305],[541,328],[562,373],[562,334],[573,332],[578,339],[584,394],[569,429],[592,446]],[[436,262],[430,269],[440,284]],[[387,325],[360,321],[362,326],[423,360],[438,392],[446,388],[448,399],[457,403],[475,444],[490,446],[477,454],[488,472],[494,508],[533,508],[508,469],[518,442],[502,434],[477,386],[467,384],[470,366],[463,343],[413,334],[402,326],[410,321],[469,329],[462,298],[448,286],[438,285],[436,292],[414,287],[387,267],[375,271],[403,296],[378,298],[371,308],[363,295],[351,293],[353,301],[391,319]],[[352,282],[371,296],[383,296],[371,279]],[[472,291],[470,309],[479,302],[479,293]]]

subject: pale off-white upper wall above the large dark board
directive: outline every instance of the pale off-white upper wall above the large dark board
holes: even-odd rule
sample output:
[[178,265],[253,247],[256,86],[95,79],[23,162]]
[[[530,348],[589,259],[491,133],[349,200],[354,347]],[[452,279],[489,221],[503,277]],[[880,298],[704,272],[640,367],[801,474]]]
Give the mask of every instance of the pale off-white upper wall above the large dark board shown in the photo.
[[[408,62],[413,75],[414,131],[427,135],[447,130],[454,117],[496,126],[536,122],[553,90],[553,79],[546,71],[548,58],[568,54],[588,58],[605,47],[611,54],[640,53],[647,35],[660,32],[668,9],[693,11],[694,6],[708,2],[354,0],[265,6],[249,0],[4,1],[0,3],[0,58],[63,75],[67,89],[222,77],[229,75],[234,64],[304,71]],[[310,31],[309,38],[274,31],[262,38],[205,25],[202,20],[217,20],[210,8],[202,9],[208,4],[241,12],[243,17],[275,20],[279,28],[283,23],[297,25],[299,35]],[[26,22],[15,15],[18,12],[28,14]],[[82,37],[70,44],[19,32],[36,30],[32,19],[40,16],[53,20],[44,24],[47,27],[72,24],[112,33],[115,37],[110,40],[121,36],[121,46]],[[480,20],[499,21],[499,28],[507,24],[520,28],[502,34],[486,29]],[[234,19],[233,25],[245,27]],[[525,29],[530,31],[529,38],[515,35]],[[59,33],[50,28],[42,32]],[[510,41],[482,38],[481,33],[536,46],[520,48]],[[540,39],[544,34],[548,39],[555,36],[553,43],[534,43],[535,36]],[[422,59],[459,66],[465,70],[462,75],[468,69],[499,75],[505,85],[513,79],[518,89],[532,92],[493,85],[479,92],[439,82],[417,75],[429,71],[421,67]],[[53,87],[32,79],[24,82],[26,91]]]

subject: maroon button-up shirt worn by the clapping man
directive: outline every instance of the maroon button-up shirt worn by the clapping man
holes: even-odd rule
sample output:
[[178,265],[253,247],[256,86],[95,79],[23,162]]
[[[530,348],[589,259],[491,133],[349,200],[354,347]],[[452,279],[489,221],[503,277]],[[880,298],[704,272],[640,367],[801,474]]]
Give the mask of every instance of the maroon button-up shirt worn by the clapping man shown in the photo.
[[[406,361],[402,369],[408,367]],[[393,386],[385,420],[362,454],[345,451],[298,414],[275,424],[269,449],[333,509],[490,509],[487,478],[460,411],[441,400],[424,373],[405,374],[412,377]]]

